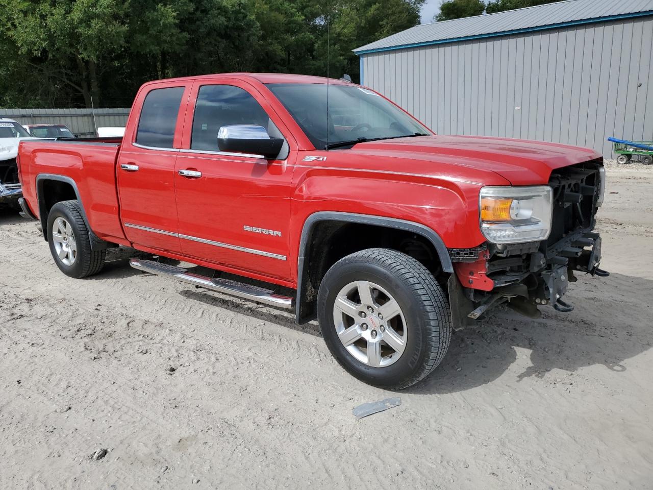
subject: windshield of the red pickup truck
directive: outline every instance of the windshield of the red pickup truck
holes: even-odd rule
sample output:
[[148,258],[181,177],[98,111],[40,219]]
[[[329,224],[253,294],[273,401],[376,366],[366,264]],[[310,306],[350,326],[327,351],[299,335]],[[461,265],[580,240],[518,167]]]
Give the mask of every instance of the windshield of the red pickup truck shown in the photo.
[[[430,135],[430,131],[377,93],[355,85],[266,84],[315,148],[357,140]],[[328,133],[327,133],[328,131]]]

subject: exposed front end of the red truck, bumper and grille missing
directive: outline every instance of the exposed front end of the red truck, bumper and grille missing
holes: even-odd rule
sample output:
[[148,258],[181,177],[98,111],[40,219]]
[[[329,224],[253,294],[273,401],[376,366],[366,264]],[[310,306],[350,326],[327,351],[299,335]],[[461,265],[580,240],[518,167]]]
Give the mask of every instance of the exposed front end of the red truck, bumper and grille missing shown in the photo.
[[557,169],[547,186],[483,188],[479,213],[488,240],[449,250],[454,328],[502,303],[532,318],[539,305],[573,310],[562,297],[578,272],[609,275],[599,269],[601,237],[593,231],[604,191],[601,159]]

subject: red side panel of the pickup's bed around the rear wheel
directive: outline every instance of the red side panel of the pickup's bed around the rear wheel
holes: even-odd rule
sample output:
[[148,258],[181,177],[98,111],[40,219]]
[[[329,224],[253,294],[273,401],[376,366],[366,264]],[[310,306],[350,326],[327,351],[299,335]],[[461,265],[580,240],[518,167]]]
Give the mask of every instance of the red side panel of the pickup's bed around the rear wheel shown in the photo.
[[[95,234],[105,240],[125,240],[119,220],[116,187],[116,160],[122,139],[78,138],[58,140],[27,140],[18,150],[23,195],[31,212],[40,217],[35,203],[40,186],[54,176],[57,182],[69,184],[86,211]],[[39,184],[40,182],[40,184]],[[118,240],[116,240],[118,238]]]

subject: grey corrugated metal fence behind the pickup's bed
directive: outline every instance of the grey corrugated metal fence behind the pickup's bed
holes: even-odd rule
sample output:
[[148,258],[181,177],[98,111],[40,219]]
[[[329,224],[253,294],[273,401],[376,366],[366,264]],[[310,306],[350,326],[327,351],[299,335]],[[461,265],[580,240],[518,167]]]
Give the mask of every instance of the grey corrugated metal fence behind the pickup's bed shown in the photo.
[[10,118],[21,124],[65,124],[76,135],[95,135],[97,127],[122,127],[127,123],[129,109],[2,109],[0,118]]

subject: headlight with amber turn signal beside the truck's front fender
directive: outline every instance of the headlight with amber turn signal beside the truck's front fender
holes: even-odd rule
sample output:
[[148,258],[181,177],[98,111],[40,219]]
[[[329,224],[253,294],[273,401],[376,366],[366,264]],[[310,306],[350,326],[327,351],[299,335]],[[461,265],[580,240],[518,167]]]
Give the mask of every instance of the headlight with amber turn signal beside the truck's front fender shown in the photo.
[[549,186],[484,187],[479,197],[481,231],[494,244],[546,240],[551,231]]

